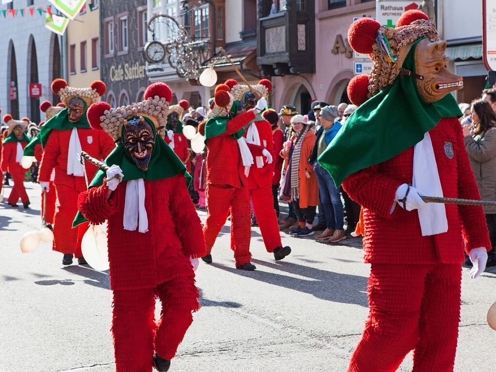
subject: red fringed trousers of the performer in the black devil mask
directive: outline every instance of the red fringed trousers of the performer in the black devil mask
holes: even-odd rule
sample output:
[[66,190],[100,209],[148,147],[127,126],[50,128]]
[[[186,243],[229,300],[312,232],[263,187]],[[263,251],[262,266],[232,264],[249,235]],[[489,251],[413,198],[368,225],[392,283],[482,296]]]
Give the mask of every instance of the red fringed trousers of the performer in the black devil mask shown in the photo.
[[[162,312],[155,324],[155,296]],[[157,286],[114,291],[112,333],[117,372],[151,372],[155,352],[171,360],[200,308],[194,277],[178,277]]]

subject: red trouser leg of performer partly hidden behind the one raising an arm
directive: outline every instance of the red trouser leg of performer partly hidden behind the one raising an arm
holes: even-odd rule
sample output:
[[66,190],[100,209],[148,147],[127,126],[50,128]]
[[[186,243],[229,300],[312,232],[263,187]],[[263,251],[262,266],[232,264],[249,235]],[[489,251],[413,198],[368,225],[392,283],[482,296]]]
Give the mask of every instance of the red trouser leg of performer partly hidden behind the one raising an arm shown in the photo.
[[273,207],[272,186],[251,188],[250,196],[256,222],[260,227],[260,233],[267,252],[272,252],[275,248],[282,247],[277,215]]

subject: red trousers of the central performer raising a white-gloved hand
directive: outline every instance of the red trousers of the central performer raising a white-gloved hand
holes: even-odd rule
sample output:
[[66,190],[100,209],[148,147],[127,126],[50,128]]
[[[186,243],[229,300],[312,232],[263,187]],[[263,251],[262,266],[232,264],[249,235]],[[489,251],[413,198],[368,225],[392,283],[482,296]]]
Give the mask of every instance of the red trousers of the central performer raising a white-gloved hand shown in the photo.
[[248,188],[208,185],[206,196],[208,216],[203,226],[203,235],[207,254],[212,251],[215,240],[231,211],[231,249],[234,250],[236,266],[250,263],[251,213]]

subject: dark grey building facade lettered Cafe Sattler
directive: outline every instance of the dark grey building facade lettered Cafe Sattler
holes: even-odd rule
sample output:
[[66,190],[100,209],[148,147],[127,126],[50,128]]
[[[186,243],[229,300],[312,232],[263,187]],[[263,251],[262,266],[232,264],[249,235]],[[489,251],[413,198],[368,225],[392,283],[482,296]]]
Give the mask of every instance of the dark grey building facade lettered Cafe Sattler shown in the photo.
[[141,101],[148,86],[143,45],[144,0],[100,0],[100,72],[107,84],[104,100],[112,107]]

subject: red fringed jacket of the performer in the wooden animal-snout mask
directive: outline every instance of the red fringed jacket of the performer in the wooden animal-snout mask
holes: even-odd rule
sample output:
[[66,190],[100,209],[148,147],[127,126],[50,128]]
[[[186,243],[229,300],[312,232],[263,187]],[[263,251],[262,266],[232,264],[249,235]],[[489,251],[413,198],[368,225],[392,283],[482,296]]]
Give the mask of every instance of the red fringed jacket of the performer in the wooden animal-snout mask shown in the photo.
[[[480,199],[458,120],[441,119],[429,134],[444,197]],[[449,143],[454,153],[451,159],[444,147]],[[491,242],[482,207],[445,204],[448,231],[423,237],[417,211],[408,212],[397,205],[396,189],[412,182],[413,152],[411,147],[388,161],[350,175],[343,182],[350,197],[364,208],[365,261],[460,263],[464,259],[464,244],[467,252],[478,247],[489,250]]]

